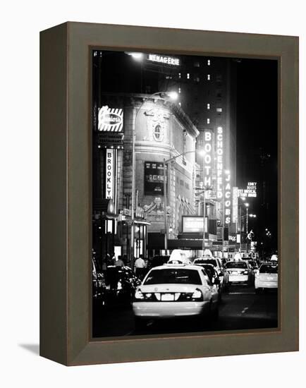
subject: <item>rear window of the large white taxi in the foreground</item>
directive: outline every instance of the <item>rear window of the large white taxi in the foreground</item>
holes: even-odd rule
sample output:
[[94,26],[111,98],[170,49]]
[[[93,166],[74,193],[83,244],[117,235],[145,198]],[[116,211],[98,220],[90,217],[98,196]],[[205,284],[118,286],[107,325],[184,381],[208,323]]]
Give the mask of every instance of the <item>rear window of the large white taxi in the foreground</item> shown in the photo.
[[202,284],[199,272],[194,269],[153,269],[145,284]]

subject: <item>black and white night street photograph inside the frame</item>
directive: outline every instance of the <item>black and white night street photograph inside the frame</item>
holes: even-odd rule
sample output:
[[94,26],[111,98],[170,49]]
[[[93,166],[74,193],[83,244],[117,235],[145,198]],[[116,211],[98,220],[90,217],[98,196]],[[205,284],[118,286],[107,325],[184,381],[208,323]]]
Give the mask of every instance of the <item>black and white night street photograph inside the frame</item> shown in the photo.
[[91,61],[92,337],[276,329],[278,62]]

